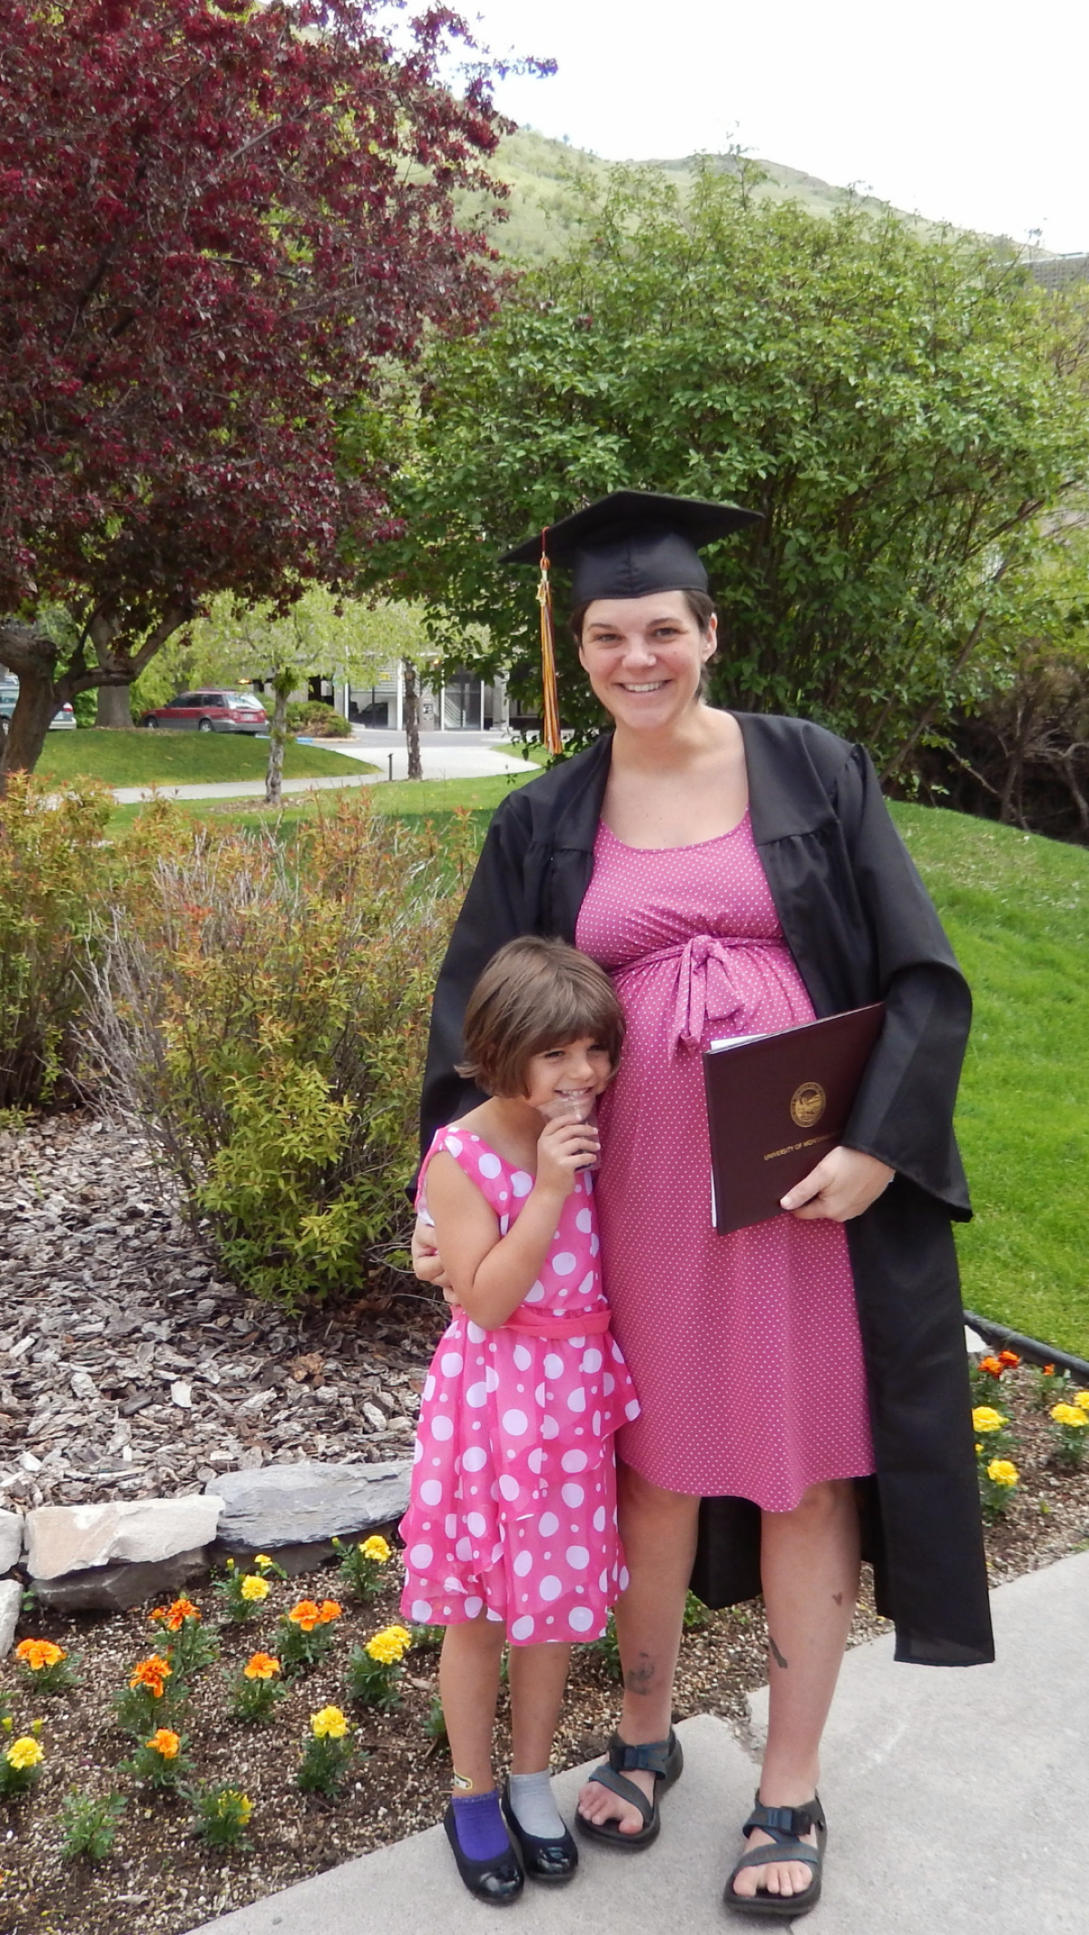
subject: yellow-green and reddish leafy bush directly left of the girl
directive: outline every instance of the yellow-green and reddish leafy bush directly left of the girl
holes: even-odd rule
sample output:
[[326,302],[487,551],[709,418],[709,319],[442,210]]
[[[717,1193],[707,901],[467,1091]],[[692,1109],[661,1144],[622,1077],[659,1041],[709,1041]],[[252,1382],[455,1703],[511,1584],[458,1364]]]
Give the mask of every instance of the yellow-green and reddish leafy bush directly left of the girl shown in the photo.
[[93,1041],[250,1291],[387,1289],[408,1235],[427,1010],[470,859],[366,793],[290,849],[161,859],[95,968]]

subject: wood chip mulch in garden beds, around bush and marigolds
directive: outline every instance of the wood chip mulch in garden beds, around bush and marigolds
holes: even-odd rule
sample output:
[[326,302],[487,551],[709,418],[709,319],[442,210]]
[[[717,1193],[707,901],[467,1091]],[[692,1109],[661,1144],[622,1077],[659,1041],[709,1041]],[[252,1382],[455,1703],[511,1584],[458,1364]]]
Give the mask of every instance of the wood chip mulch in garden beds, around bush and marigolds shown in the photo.
[[[199,1233],[157,1192],[141,1146],[87,1115],[6,1138],[0,1163],[8,1176],[0,1219],[4,1502],[74,1503],[195,1490],[205,1473],[273,1457],[406,1453],[414,1387],[441,1327],[441,1314],[426,1298],[371,1310],[362,1324],[346,1312],[288,1322],[253,1304],[217,1275]],[[128,1327],[130,1318],[135,1327]],[[19,1349],[25,1337],[31,1343]],[[315,1364],[300,1376],[304,1358]],[[95,1395],[87,1384],[77,1395],[77,1370],[85,1370]],[[172,1384],[190,1387],[191,1405],[178,1403]],[[1010,1455],[1021,1474],[1008,1513],[988,1527],[994,1583],[1089,1540],[1089,1465],[1066,1473],[1054,1463],[1054,1428],[1037,1407],[1037,1384],[1023,1366],[1008,1372],[994,1393],[1010,1416]],[[126,1413],[128,1397],[145,1391],[153,1403]],[[238,1403],[255,1391],[273,1397],[238,1416]],[[364,1414],[364,1403],[373,1416]],[[398,1560],[389,1571],[398,1573]],[[149,1800],[116,1772],[132,1749],[114,1726],[112,1695],[132,1664],[155,1649],[149,1608],[112,1618],[29,1612],[19,1637],[54,1639],[79,1654],[81,1683],[46,1699],[23,1685],[14,1658],[0,1668],[15,1734],[43,1718],[46,1753],[35,1794],[0,1803],[4,1935],[130,1935],[133,1927],[141,1935],[184,1935],[439,1819],[449,1761],[426,1730],[435,1652],[414,1649],[406,1656],[402,1707],[395,1712],[350,1707],[346,1699],[350,1647],[398,1620],[397,1577],[366,1606],[346,1596],[335,1565],[275,1583],[257,1618],[242,1627],[221,1625],[207,1583],[190,1593],[221,1637],[221,1658],[193,1685],[184,1720],[188,1747],[201,1780],[230,1780],[251,1798],[250,1848],[205,1848],[191,1834],[184,1801]],[[250,1652],[277,1651],[277,1620],[304,1594],[337,1598],[344,1608],[329,1660],[292,1682],[271,1726],[228,1720],[228,1682]],[[851,1643],[886,1629],[865,1596]],[[764,1683],[764,1660],[758,1602],[712,1614],[702,1629],[685,1635],[675,1716],[716,1712],[745,1738],[745,1695]],[[338,1805],[294,1788],[309,1714],[325,1705],[350,1712],[366,1751]],[[555,1765],[596,1755],[617,1712],[619,1687],[607,1660],[590,1647],[576,1649]],[[501,1753],[503,1745],[501,1738]],[[60,1860],[60,1805],[75,1788],[128,1796],[114,1852],[97,1865]]]

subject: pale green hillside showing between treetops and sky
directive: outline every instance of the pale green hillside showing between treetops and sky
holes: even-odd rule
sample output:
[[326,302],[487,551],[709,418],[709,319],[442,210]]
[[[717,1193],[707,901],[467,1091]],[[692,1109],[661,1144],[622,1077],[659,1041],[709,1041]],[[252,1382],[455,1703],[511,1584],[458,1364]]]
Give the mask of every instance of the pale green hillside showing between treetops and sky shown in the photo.
[[[735,155],[716,157],[721,168],[739,166]],[[694,157],[679,161],[648,161],[648,168],[662,168],[671,180],[685,186],[692,180]],[[764,180],[756,182],[756,199],[801,201],[814,215],[830,215],[845,201],[859,201],[863,207],[880,213],[888,203],[874,195],[855,195],[849,188],[834,188],[830,182],[805,174],[801,168],[787,168],[778,161],[752,161],[762,170]],[[499,143],[495,172],[509,184],[509,219],[493,230],[497,248],[522,263],[545,261],[557,255],[576,224],[576,194],[573,184],[578,178],[603,178],[609,163],[600,161],[586,149],[571,147],[567,141],[553,141],[534,128],[518,128]],[[936,224],[919,217],[907,217],[919,234],[934,232]]]

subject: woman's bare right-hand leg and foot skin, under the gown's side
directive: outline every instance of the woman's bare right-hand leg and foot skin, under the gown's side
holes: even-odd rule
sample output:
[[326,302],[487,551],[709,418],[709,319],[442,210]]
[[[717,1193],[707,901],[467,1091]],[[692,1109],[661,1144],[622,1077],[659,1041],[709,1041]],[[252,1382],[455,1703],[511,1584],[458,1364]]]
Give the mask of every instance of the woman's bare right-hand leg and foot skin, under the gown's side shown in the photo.
[[[849,1478],[812,1484],[793,1511],[762,1515],[768,1614],[768,1747],[760,1774],[766,1807],[812,1800],[820,1736],[836,1691],[859,1594],[859,1513]],[[816,1842],[816,1834],[809,1836]],[[770,1842],[754,1829],[749,1848]],[[801,1894],[812,1875],[801,1861],[747,1867],[735,1894]]]

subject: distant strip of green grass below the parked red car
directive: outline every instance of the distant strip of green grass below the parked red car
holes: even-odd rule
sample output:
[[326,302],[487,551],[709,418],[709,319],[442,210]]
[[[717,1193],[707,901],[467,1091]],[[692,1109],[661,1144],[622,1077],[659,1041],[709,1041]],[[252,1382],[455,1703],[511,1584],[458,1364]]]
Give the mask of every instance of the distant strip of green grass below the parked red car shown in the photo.
[[[226,731],[132,731],[50,733],[37,774],[44,780],[101,780],[104,786],[209,786],[221,780],[263,780],[269,741]],[[350,778],[375,772],[344,753],[288,743],[286,780]]]

